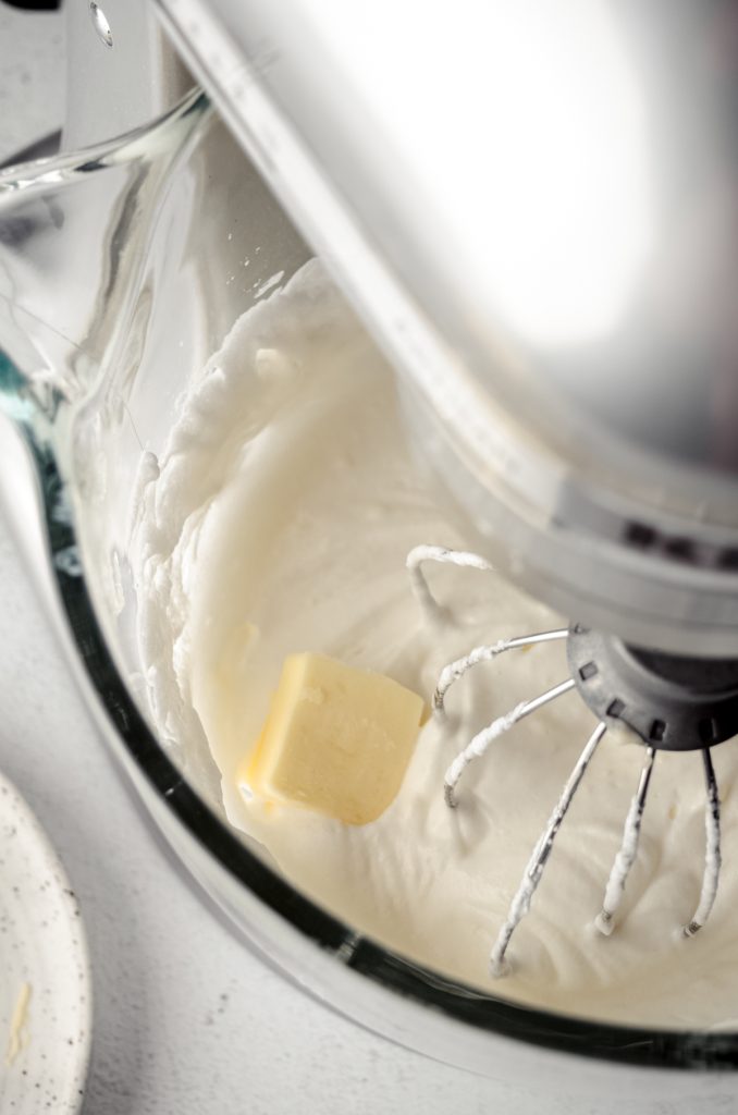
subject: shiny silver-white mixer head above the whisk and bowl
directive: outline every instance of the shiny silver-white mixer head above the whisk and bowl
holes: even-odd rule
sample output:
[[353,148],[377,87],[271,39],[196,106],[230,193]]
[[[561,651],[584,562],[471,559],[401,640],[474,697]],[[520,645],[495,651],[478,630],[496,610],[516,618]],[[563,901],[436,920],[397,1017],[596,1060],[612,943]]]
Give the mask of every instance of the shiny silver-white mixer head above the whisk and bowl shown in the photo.
[[729,12],[158,2],[507,572],[735,656]]

